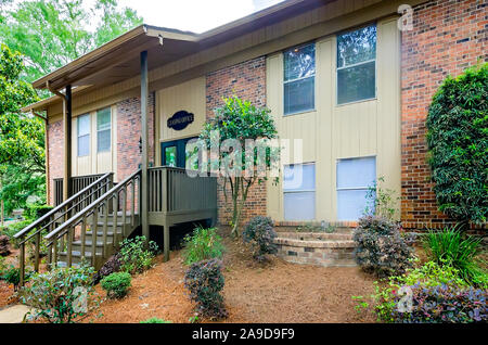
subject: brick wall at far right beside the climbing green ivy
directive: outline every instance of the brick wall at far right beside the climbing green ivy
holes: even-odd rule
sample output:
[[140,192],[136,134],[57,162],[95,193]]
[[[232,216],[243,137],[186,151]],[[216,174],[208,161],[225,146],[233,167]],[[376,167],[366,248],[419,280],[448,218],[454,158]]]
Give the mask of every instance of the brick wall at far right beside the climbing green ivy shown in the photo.
[[426,162],[425,119],[448,75],[488,61],[486,0],[438,0],[414,8],[413,30],[402,33],[401,219],[406,228],[441,227]]

